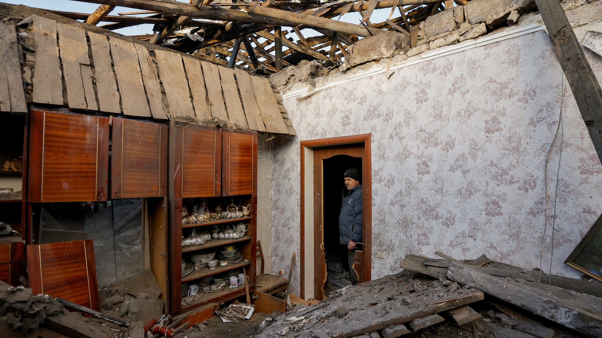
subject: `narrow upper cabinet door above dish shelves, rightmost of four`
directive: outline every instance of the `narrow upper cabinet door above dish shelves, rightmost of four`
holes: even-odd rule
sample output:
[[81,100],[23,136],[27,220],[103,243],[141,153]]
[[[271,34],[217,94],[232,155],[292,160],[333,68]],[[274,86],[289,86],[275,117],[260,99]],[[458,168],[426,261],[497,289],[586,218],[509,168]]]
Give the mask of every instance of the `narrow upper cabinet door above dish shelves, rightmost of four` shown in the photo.
[[257,134],[222,131],[222,195],[257,192]]

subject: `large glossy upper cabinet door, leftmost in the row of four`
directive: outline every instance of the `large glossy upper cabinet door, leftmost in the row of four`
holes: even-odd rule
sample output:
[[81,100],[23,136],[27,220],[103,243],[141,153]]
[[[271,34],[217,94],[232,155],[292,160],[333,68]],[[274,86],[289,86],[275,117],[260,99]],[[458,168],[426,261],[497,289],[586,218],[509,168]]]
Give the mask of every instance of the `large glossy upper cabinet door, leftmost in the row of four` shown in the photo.
[[109,119],[31,111],[29,202],[106,201]]

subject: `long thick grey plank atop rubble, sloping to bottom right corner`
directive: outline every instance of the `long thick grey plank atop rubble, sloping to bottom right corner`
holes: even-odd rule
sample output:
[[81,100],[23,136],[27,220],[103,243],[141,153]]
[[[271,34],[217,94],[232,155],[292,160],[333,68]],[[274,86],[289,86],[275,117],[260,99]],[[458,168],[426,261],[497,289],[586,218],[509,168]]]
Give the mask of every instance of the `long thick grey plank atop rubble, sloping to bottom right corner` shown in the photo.
[[[516,281],[503,280],[479,272],[461,263],[450,263],[447,277],[476,289],[486,290],[489,295],[519,306],[536,315],[573,328],[590,337],[602,336],[602,301],[600,298],[577,292],[567,292],[559,287],[547,286],[548,290],[527,286]],[[550,292],[550,291],[554,291]],[[562,294],[559,297],[556,293]]]

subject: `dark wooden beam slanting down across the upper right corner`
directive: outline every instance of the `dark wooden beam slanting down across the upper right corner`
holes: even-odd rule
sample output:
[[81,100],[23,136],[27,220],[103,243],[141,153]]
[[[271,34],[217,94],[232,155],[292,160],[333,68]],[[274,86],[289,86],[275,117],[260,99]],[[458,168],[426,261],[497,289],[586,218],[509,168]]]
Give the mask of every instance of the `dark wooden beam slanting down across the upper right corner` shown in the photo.
[[554,54],[571,86],[589,137],[602,161],[602,89],[559,0],[535,0]]

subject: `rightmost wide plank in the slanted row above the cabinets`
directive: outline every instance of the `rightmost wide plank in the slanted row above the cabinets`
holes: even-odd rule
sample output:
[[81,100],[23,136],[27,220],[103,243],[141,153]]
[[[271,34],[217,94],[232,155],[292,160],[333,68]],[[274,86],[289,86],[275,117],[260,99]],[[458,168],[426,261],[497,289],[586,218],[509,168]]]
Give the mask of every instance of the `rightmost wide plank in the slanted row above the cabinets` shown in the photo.
[[276,103],[276,97],[272,93],[272,85],[266,78],[259,78],[253,76],[251,78],[253,90],[255,91],[255,99],[259,106],[259,112],[261,119],[265,124],[265,131],[288,134],[287,125],[284,124],[282,116],[280,115],[280,109],[278,109],[278,103]]

